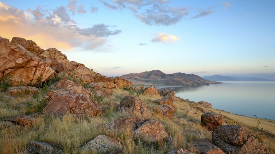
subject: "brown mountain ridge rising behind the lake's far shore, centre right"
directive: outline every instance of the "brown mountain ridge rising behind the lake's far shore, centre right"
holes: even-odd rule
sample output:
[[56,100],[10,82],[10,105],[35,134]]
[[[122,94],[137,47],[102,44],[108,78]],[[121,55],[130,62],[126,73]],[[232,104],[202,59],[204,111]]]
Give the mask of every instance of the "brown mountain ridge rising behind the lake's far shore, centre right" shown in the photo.
[[152,85],[171,85],[171,86],[197,86],[214,84],[213,82],[194,74],[173,73],[165,74],[160,70],[145,71],[141,73],[130,73],[122,75],[122,78],[129,80],[133,85],[152,84]]

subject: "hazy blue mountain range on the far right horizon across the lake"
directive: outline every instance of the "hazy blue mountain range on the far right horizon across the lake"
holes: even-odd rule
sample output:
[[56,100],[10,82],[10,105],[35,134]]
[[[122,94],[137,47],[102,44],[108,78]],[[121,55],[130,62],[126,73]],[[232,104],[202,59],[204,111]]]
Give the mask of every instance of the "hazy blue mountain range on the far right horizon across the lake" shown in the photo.
[[263,78],[253,78],[253,77],[237,77],[237,76],[222,76],[222,75],[213,75],[213,76],[204,76],[203,79],[211,81],[272,81]]

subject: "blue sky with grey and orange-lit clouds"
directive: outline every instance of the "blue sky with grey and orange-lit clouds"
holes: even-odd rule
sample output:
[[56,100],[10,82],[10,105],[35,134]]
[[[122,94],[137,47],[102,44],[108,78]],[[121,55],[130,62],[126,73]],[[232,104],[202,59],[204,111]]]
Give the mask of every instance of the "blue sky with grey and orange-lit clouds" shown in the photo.
[[0,36],[95,72],[275,73],[275,1],[0,0]]

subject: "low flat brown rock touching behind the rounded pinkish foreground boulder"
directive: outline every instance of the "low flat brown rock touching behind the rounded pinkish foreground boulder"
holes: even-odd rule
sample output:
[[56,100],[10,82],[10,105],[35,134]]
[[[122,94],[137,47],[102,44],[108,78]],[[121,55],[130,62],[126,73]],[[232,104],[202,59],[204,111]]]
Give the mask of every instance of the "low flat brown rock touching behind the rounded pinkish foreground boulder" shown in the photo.
[[141,123],[147,121],[146,119],[142,119],[136,116],[127,116],[124,118],[116,119],[115,121],[106,124],[107,131],[110,132],[115,131],[117,134],[121,134],[123,130],[130,129],[130,131],[134,131],[138,128]]

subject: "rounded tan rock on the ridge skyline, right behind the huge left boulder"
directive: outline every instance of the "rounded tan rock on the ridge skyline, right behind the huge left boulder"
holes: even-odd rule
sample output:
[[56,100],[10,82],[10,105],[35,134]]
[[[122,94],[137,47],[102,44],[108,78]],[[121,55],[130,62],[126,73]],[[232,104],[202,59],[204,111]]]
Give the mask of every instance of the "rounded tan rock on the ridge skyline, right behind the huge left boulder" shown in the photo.
[[40,55],[39,58],[44,59],[46,57],[53,58],[59,63],[65,65],[70,71],[72,71],[73,66],[71,62],[67,59],[67,56],[63,53],[61,53],[59,50],[56,48],[49,48],[45,51],[43,51]]

